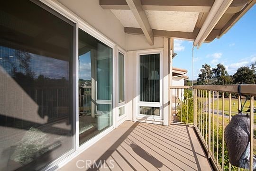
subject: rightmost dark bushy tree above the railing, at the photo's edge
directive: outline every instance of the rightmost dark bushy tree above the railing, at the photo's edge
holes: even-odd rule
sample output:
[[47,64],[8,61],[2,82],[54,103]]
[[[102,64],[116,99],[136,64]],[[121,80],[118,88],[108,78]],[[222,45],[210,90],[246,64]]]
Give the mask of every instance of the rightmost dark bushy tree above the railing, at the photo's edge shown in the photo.
[[242,66],[238,68],[237,72],[233,76],[236,84],[254,84],[255,74],[248,66]]

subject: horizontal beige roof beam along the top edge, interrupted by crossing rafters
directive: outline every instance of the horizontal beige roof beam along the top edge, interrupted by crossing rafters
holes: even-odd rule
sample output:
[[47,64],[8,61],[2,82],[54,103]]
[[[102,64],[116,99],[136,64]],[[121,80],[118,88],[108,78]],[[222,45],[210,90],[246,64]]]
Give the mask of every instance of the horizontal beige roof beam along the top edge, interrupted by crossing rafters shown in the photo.
[[[243,9],[249,0],[234,0],[226,13]],[[141,0],[143,10],[209,12],[214,0]],[[126,0],[100,0],[103,9],[130,9]]]

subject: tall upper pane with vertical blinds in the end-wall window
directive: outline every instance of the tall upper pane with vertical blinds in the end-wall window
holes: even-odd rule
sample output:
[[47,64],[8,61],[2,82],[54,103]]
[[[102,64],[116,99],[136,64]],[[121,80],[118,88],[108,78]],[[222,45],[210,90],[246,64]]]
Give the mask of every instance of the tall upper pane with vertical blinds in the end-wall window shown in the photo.
[[160,54],[140,55],[140,101],[160,102]]

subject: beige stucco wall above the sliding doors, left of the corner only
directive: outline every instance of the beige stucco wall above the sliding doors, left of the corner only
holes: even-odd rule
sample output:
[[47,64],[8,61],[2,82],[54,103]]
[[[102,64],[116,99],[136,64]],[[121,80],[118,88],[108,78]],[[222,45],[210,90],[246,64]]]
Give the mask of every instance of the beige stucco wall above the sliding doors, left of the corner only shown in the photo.
[[58,1],[117,45],[126,48],[123,25],[110,10],[101,8],[99,0]]

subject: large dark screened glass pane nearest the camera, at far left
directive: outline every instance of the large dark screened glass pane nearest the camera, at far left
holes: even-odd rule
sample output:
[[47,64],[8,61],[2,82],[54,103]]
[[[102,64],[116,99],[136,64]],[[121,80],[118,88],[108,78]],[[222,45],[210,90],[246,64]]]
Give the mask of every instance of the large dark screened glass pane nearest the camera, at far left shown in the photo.
[[30,0],[1,1],[1,171],[40,170],[73,149],[73,31]]

